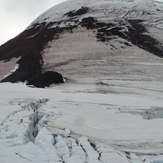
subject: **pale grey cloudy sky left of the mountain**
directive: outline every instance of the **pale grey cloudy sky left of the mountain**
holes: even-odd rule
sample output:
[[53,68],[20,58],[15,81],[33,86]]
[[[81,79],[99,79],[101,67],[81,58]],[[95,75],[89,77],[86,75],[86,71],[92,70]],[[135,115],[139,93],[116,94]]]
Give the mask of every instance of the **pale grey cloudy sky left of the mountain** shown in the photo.
[[0,0],[0,45],[22,32],[37,16],[65,0]]

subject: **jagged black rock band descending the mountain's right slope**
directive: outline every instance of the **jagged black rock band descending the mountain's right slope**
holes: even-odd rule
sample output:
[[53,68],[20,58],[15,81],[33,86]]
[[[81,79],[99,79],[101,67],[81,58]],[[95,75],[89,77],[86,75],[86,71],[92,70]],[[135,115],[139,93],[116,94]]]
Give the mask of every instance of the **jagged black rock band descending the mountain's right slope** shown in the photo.
[[125,23],[107,24],[88,17],[82,19],[81,26],[87,29],[97,29],[98,41],[109,42],[113,36],[118,36],[158,57],[163,57],[163,45],[148,34],[147,29],[142,25],[142,20],[126,20]]

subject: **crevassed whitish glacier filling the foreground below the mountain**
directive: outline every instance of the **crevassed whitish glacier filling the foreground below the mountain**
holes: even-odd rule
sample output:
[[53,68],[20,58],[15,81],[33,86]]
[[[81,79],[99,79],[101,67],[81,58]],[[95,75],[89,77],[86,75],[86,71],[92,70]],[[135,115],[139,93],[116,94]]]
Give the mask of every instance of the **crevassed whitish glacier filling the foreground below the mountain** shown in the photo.
[[[1,163],[163,161],[162,82],[6,83],[0,90]],[[138,114],[157,115],[154,107],[158,119]]]

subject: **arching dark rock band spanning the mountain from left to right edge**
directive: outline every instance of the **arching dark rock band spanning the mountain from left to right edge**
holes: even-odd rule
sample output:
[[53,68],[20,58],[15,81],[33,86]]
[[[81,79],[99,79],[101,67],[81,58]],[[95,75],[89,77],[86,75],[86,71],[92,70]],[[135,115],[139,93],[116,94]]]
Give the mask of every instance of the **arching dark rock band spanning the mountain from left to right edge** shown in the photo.
[[[18,82],[34,78],[44,72],[42,51],[49,41],[59,39],[63,32],[73,34],[73,29],[79,25],[89,29],[95,29],[97,41],[109,43],[111,39],[120,37],[125,39],[126,46],[132,44],[144,49],[158,57],[163,57],[163,45],[152,38],[147,29],[142,25],[141,20],[125,20],[125,22],[104,23],[99,22],[94,17],[85,17],[80,22],[76,15],[82,15],[88,12],[89,8],[82,7],[78,11],[66,13],[70,17],[67,21],[51,22],[49,24],[35,24],[26,29],[14,39],[8,41],[0,47],[0,61],[10,61],[12,58],[18,58],[19,68],[7,76],[1,82]],[[75,22],[75,25],[59,27],[63,23]],[[52,27],[53,25],[56,27]],[[66,63],[62,63],[66,64]]]

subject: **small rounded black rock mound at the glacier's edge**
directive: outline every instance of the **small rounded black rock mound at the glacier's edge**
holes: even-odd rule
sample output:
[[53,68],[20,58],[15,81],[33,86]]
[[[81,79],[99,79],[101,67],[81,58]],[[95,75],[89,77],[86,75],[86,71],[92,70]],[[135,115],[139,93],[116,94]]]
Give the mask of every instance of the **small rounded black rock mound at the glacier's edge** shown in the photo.
[[48,71],[43,74],[30,78],[27,85],[33,85],[38,88],[49,87],[52,84],[64,83],[61,74],[53,71]]

